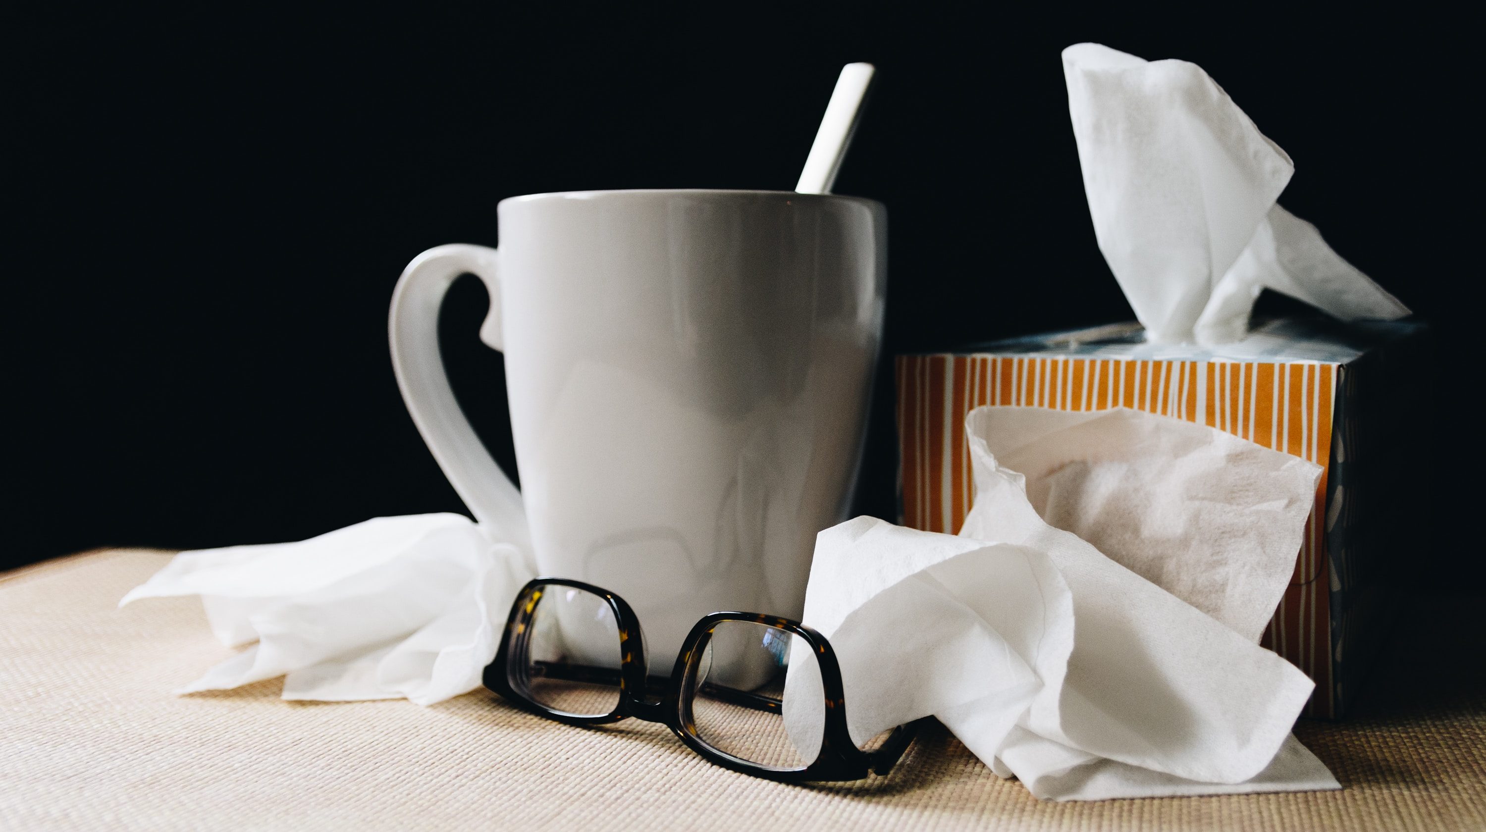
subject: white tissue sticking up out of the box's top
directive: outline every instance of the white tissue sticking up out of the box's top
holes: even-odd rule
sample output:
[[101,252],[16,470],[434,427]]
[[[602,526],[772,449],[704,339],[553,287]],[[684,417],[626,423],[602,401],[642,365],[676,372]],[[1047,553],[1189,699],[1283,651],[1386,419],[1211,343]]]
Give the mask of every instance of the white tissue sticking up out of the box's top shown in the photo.
[[1150,340],[1241,340],[1260,290],[1343,321],[1409,309],[1275,201],[1290,156],[1196,64],[1062,51],[1100,251]]

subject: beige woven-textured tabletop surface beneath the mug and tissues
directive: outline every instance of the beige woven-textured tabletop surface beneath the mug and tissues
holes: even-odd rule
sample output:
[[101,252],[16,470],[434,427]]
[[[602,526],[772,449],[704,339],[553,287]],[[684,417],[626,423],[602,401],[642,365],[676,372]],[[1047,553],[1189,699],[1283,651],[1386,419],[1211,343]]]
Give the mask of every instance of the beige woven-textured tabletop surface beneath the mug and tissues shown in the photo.
[[[278,680],[172,697],[227,651],[195,599],[114,609],[165,560],[110,551],[0,579],[0,829],[1486,829],[1468,599],[1433,605],[1443,630],[1404,618],[1357,719],[1297,727],[1340,792],[1043,804],[944,729],[890,777],[804,787],[715,768],[664,728],[569,728],[481,692],[428,709],[285,703]],[[1440,651],[1462,651],[1455,670]]]

